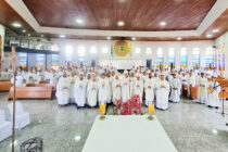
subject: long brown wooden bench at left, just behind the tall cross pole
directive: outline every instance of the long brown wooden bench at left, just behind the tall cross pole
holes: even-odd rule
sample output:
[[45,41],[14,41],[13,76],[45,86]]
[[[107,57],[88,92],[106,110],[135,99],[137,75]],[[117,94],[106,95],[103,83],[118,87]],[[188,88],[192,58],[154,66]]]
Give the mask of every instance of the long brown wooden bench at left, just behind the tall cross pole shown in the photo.
[[[13,99],[13,87],[9,100]],[[52,99],[52,87],[16,87],[16,99]]]

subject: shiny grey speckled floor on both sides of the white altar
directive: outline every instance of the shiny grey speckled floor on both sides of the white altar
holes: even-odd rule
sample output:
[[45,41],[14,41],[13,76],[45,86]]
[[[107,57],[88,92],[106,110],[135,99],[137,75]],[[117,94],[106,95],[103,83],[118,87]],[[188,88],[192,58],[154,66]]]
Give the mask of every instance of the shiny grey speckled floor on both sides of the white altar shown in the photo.
[[[8,93],[0,93],[0,109],[7,112]],[[98,109],[80,109],[74,105],[59,107],[55,100],[21,101],[30,114],[30,125],[16,132],[16,151],[20,144],[34,137],[45,141],[45,152],[80,152],[91,129]],[[143,107],[143,112],[147,109]],[[228,115],[219,110],[182,99],[169,103],[167,111],[155,111],[161,124],[179,152],[227,152]],[[0,152],[11,151],[11,138],[0,142]]]

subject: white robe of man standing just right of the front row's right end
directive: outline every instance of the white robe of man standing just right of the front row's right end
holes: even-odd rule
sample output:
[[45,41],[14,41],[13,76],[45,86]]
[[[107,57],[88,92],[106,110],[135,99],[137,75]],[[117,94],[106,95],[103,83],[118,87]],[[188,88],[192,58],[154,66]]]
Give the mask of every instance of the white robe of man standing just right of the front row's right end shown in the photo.
[[179,78],[172,79],[170,88],[172,88],[170,101],[179,102],[180,101],[180,88],[181,88],[181,83],[180,83]]

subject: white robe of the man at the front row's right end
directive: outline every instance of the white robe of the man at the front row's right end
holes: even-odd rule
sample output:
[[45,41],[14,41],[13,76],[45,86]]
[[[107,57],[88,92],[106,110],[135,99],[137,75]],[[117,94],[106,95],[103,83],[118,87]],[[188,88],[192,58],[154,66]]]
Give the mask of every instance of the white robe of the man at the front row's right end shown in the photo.
[[[161,88],[164,86],[165,88]],[[159,80],[156,83],[156,107],[162,110],[168,109],[169,84],[167,80]]]

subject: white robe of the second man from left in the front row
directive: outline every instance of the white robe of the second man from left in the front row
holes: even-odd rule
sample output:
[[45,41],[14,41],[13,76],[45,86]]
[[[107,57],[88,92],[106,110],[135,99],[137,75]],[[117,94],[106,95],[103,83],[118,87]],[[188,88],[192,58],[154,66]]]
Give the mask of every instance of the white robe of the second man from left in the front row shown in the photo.
[[75,103],[77,106],[81,107],[86,104],[86,87],[87,87],[87,80],[76,80],[75,81]]

